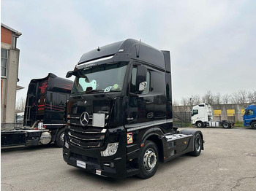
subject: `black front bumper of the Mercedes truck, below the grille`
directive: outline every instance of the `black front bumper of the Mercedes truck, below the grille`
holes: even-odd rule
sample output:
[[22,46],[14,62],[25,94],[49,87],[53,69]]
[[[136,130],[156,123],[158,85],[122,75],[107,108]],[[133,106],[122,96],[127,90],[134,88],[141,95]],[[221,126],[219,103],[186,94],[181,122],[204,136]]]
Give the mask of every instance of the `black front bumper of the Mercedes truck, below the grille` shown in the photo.
[[[67,141],[67,137],[65,137],[65,141]],[[118,141],[116,154],[102,157],[100,152],[106,149],[108,143],[116,141]],[[81,169],[100,176],[121,179],[138,174],[138,169],[127,168],[129,165],[127,165],[125,130],[121,130],[118,133],[108,133],[104,142],[103,147],[86,149],[67,141],[69,148],[63,148],[63,158],[67,164],[77,168],[81,168],[77,165],[77,161],[83,161],[83,163],[86,163],[86,168]]]

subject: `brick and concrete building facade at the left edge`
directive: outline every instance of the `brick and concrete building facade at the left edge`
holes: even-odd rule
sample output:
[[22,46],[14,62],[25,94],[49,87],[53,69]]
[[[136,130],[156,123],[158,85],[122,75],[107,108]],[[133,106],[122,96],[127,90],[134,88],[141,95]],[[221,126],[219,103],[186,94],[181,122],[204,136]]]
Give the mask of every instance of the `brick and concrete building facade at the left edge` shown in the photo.
[[15,122],[16,90],[20,88],[17,86],[20,35],[19,31],[1,23],[1,126]]

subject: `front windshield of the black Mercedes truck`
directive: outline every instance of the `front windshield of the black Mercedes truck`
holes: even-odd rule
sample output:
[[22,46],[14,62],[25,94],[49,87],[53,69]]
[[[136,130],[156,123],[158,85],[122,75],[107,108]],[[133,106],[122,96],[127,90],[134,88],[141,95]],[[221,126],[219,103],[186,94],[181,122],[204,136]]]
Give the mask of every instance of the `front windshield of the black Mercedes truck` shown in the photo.
[[126,69],[127,63],[124,62],[80,69],[75,78],[72,93],[121,91]]

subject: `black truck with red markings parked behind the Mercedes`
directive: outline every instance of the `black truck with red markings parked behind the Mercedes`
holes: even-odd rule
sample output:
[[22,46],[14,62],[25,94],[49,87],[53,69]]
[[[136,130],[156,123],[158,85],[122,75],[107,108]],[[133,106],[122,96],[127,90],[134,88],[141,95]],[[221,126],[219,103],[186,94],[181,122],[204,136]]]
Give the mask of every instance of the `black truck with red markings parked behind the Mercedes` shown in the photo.
[[64,110],[73,82],[49,73],[31,79],[26,97],[23,128],[1,130],[1,147],[34,146],[54,141],[63,146]]

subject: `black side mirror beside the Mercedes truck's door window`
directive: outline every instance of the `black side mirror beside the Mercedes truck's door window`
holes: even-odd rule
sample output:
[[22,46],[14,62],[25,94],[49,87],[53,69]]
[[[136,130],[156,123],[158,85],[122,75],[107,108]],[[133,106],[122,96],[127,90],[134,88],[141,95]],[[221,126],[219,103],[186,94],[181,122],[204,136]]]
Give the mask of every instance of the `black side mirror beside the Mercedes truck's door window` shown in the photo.
[[136,77],[136,90],[142,92],[146,89],[146,74],[147,68],[146,66],[139,65],[137,70],[137,77]]

